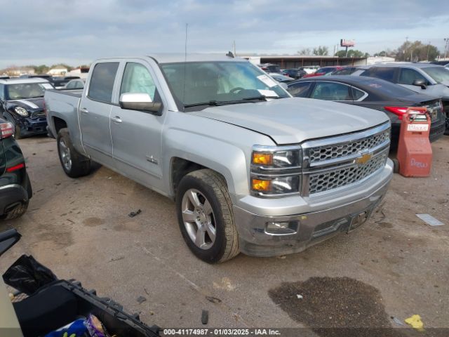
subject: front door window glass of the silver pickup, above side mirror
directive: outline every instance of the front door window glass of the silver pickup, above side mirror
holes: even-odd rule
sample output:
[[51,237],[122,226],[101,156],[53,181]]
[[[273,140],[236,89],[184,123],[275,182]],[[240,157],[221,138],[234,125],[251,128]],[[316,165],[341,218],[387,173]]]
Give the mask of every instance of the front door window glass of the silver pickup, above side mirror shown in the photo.
[[126,63],[120,95],[122,93],[147,93],[154,101],[156,85],[145,66],[140,63]]

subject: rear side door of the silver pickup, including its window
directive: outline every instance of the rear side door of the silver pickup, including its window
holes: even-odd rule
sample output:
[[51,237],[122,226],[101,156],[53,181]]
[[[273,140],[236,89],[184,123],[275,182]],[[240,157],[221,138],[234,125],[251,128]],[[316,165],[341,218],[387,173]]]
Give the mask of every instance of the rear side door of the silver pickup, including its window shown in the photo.
[[98,62],[79,104],[81,141],[86,152],[95,161],[112,167],[112,140],[109,114],[116,86],[119,62]]

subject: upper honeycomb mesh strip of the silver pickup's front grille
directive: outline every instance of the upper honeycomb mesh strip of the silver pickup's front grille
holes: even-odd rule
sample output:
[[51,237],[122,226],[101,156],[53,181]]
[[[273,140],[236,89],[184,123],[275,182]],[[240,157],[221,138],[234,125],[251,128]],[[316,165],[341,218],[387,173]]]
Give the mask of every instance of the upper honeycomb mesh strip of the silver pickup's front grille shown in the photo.
[[321,147],[313,147],[309,150],[309,160],[311,163],[325,161],[328,159],[336,159],[356,154],[366,149],[372,149],[388,140],[390,137],[389,129],[363,139],[353,140],[347,143],[335,145],[326,145]]

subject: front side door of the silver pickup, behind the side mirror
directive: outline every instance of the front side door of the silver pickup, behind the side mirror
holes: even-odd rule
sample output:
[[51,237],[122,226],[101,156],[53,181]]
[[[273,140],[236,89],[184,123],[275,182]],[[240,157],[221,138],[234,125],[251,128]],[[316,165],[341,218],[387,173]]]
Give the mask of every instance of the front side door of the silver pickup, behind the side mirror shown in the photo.
[[[149,62],[151,60],[130,59],[122,63],[116,103],[123,93],[147,93],[153,102],[163,103],[154,68]],[[128,110],[118,104],[112,106],[111,111],[116,168],[123,175],[154,190],[163,190],[161,131],[166,114],[161,111]]]

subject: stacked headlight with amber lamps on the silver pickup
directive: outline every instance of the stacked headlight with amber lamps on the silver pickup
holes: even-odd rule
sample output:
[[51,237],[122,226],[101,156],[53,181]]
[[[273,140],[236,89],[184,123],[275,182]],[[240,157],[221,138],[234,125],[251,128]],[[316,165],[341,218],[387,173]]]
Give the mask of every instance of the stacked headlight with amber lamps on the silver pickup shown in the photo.
[[250,188],[258,197],[300,192],[302,150],[299,146],[255,146],[251,154]]

